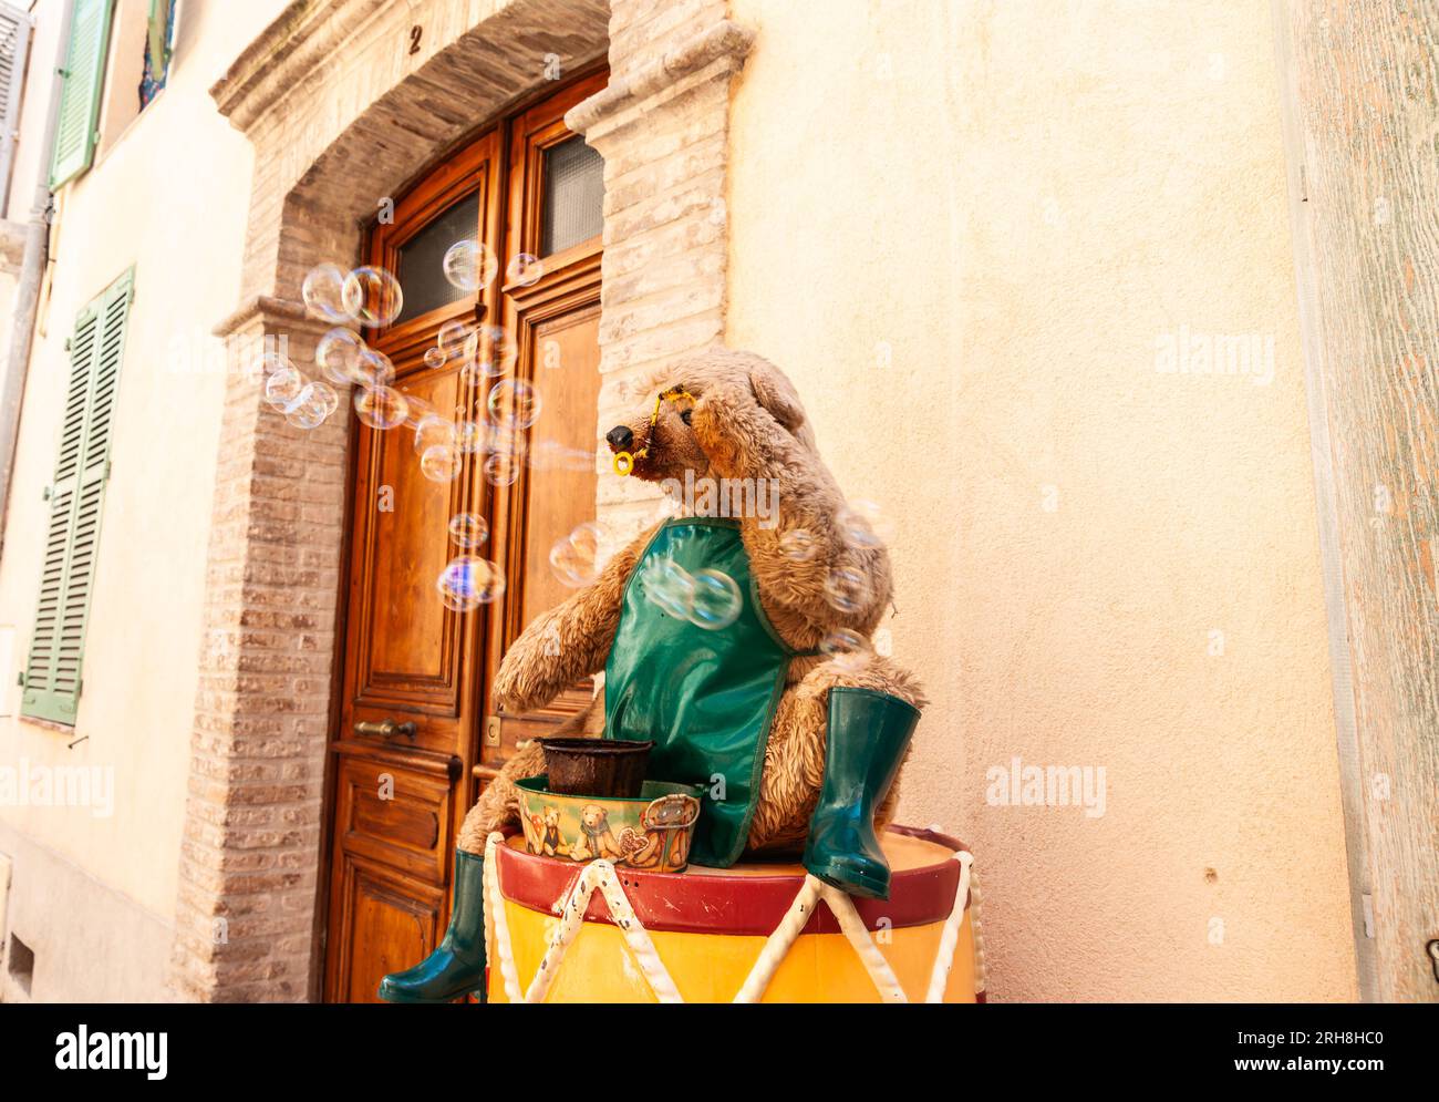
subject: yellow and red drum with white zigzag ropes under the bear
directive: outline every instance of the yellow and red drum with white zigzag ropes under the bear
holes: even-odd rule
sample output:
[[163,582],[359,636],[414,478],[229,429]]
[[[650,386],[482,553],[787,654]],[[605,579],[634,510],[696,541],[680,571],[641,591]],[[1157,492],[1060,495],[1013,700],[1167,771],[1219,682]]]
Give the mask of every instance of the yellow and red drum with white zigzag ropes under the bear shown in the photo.
[[576,867],[491,834],[492,1003],[981,1003],[973,857],[911,827],[884,836],[888,900],[799,864],[682,873]]

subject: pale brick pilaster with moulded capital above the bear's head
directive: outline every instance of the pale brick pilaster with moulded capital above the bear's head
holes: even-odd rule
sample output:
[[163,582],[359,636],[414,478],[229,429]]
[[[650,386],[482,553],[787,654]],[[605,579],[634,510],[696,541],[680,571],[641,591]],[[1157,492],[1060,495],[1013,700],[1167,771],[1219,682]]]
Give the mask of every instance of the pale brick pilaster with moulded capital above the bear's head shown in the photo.
[[[604,156],[600,424],[636,377],[724,337],[730,85],[750,35],[725,3],[636,0],[610,19],[610,86],[566,122]],[[637,529],[659,490],[600,483],[600,516]]]

